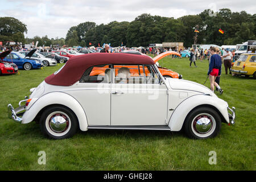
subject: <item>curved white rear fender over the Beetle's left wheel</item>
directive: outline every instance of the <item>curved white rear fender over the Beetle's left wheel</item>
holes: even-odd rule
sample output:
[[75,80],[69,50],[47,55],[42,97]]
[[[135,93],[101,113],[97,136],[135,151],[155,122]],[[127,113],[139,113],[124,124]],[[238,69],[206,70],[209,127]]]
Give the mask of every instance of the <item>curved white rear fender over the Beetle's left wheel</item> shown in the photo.
[[[32,104],[32,103],[31,103]],[[84,109],[82,109],[82,106],[80,103],[70,96],[67,93],[63,92],[50,92],[42,97],[38,98],[30,107],[29,109],[23,114],[22,123],[29,123],[35,119],[36,115],[46,106],[53,105],[53,104],[59,104],[64,105],[71,109],[77,116],[77,119],[79,121],[79,126],[82,131],[86,131],[88,127],[88,122],[86,118],[86,114]]]

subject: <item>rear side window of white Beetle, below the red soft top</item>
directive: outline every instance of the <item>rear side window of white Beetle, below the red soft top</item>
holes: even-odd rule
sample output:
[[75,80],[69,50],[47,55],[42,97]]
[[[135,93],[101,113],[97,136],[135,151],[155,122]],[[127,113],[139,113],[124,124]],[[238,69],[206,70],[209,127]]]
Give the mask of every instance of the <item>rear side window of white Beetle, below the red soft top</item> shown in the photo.
[[105,83],[111,82],[111,67],[110,65],[96,65],[88,68],[82,76],[81,83]]

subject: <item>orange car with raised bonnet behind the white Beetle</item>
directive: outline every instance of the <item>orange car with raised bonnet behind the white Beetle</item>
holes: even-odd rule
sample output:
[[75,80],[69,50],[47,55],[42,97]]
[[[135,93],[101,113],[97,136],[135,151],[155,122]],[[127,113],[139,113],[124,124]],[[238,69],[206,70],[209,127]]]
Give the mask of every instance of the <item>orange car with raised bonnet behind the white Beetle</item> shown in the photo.
[[[122,51],[121,53],[131,53],[131,54],[135,54],[135,55],[145,55],[144,53],[141,53],[141,52],[136,51],[134,49],[127,49],[127,50]],[[180,54],[175,52],[175,51],[167,51],[167,52],[163,52],[162,54],[160,54],[160,56],[154,57],[154,61],[155,61],[156,65],[158,65],[158,69],[159,69],[160,73],[164,77],[182,79],[182,75],[179,75],[179,73],[176,73],[176,72],[174,72],[174,71],[172,71],[171,69],[168,69],[168,68],[160,67],[160,65],[158,64],[158,61],[160,59],[162,59],[162,57],[165,57],[166,55],[180,56]]]

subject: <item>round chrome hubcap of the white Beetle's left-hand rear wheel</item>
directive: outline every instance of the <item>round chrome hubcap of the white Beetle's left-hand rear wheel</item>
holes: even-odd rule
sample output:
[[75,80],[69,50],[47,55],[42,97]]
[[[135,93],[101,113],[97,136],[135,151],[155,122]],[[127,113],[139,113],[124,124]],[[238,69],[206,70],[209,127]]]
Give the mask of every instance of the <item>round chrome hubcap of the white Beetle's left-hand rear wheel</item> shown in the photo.
[[63,133],[68,129],[69,119],[64,114],[54,114],[49,119],[49,126],[56,133]]

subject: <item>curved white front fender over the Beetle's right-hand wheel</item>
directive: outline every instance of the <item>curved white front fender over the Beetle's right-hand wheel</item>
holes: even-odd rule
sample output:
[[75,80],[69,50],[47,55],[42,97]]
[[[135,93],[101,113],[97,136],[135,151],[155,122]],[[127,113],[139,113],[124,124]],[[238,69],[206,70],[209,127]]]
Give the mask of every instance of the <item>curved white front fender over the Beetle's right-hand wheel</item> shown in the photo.
[[218,97],[199,94],[188,97],[176,107],[168,123],[171,131],[180,131],[188,113],[200,105],[210,105],[215,107],[225,118],[225,121],[229,123],[228,103],[226,101],[221,100]]

